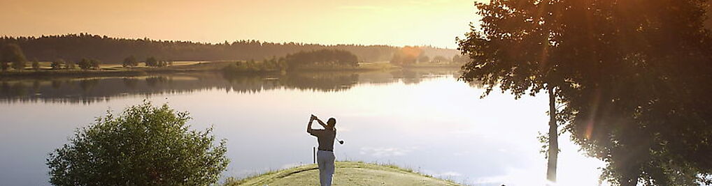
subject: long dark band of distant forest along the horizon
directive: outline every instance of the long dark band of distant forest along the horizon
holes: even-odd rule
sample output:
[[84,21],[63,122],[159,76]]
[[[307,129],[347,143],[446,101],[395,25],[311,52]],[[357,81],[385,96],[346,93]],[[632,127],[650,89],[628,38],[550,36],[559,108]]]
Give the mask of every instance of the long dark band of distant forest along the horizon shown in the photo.
[[[15,43],[22,48],[28,60],[78,61],[92,58],[103,63],[120,64],[128,56],[137,59],[156,57],[160,60],[263,60],[283,57],[290,53],[308,50],[346,50],[357,55],[358,60],[377,62],[391,60],[399,47],[389,45],[319,45],[305,43],[268,43],[258,40],[237,40],[232,43],[197,43],[177,40],[151,40],[110,38],[88,33],[68,35],[43,35],[41,37],[0,38],[0,45]],[[446,58],[458,54],[457,50],[420,47],[426,55]]]

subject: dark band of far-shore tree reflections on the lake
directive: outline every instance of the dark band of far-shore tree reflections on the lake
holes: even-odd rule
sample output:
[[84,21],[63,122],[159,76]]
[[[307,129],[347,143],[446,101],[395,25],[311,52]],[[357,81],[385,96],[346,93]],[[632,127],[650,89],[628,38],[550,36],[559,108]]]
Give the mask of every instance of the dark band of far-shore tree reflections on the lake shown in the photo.
[[287,75],[229,75],[213,72],[144,77],[57,78],[0,80],[0,102],[91,104],[115,97],[190,93],[206,89],[256,93],[271,89],[338,92],[355,84],[384,84],[402,80],[417,84],[424,78],[454,76],[456,69],[413,69],[375,72],[300,72]]

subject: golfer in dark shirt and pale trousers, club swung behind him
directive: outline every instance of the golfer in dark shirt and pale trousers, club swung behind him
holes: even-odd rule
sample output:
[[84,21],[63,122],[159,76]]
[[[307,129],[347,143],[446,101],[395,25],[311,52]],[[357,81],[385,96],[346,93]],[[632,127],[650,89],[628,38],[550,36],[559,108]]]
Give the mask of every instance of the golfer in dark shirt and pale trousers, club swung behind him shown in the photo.
[[[324,129],[311,128],[312,121],[318,121]],[[334,138],[336,138],[336,119],[330,118],[326,124],[312,115],[307,125],[307,132],[316,136],[319,141],[319,151],[316,160],[319,165],[319,182],[321,186],[331,186],[331,176],[334,174]]]

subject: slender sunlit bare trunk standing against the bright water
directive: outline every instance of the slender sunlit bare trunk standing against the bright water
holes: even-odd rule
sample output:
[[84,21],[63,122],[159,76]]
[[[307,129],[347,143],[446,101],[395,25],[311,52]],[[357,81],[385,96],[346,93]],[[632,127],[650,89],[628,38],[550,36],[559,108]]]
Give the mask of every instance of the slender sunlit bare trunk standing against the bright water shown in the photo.
[[546,170],[546,180],[556,182],[556,161],[559,155],[559,139],[556,124],[556,95],[554,88],[549,87],[549,155]]

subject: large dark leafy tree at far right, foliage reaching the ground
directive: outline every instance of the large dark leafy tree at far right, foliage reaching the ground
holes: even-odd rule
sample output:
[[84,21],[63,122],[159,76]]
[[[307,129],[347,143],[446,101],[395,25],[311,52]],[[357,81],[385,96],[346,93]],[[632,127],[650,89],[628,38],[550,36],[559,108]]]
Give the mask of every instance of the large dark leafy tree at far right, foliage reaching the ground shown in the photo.
[[607,163],[603,177],[614,184],[712,182],[712,111],[701,105],[712,103],[704,3],[600,1],[562,11],[559,49],[576,61],[562,68],[578,74],[576,86],[562,87],[572,113],[566,129]]

